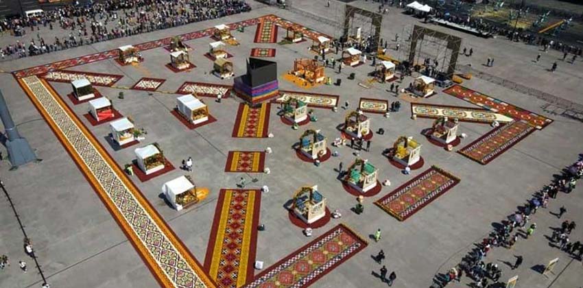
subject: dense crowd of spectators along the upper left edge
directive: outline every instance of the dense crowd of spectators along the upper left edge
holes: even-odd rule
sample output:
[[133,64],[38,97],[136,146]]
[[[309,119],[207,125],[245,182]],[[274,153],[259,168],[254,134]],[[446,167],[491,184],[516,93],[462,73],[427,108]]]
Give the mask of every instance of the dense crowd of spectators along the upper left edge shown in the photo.
[[[86,6],[66,5],[24,19],[0,21],[0,32],[32,35],[29,43],[17,38],[2,47],[0,56],[34,56],[250,10],[245,0],[108,0]],[[45,40],[41,26],[69,33]]]

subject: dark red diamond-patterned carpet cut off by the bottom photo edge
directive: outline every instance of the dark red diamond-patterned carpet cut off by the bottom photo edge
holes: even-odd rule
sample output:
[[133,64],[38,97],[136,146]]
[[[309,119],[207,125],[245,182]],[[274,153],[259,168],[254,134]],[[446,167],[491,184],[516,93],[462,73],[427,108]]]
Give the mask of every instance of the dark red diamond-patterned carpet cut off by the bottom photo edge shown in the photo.
[[344,263],[368,243],[339,224],[265,269],[246,288],[303,288]]

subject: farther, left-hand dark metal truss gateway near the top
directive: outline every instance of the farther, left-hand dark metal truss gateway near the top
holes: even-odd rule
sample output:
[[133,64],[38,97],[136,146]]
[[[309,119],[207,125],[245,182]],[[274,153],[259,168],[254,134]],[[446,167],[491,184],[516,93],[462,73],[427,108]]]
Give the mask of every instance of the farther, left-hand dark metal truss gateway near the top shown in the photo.
[[[356,18],[355,16],[361,16]],[[364,18],[364,19],[362,19]],[[357,21],[362,20],[362,21]],[[368,22],[370,21],[370,22]],[[366,39],[368,36],[372,37],[371,51],[379,50],[379,40],[381,38],[381,25],[383,23],[383,15],[361,8],[356,8],[352,5],[346,5],[344,10],[344,26],[342,27],[342,40],[346,41],[350,38],[351,31],[357,31],[357,36],[361,39]],[[370,25],[368,31],[363,27]],[[359,29],[360,28],[360,29]]]

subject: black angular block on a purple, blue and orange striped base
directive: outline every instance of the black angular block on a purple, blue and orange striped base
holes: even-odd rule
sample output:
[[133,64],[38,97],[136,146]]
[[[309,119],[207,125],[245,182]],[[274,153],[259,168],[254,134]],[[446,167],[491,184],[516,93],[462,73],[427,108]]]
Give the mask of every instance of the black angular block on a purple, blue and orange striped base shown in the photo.
[[237,97],[251,105],[277,97],[279,95],[277,63],[249,58],[247,61],[247,73],[235,77],[233,90]]

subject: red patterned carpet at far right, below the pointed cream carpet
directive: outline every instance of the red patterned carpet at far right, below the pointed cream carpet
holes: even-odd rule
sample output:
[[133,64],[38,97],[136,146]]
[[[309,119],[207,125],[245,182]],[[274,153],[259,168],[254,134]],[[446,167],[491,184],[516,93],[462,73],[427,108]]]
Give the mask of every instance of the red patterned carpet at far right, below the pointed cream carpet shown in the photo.
[[525,121],[500,125],[463,147],[457,153],[486,165],[532,132],[534,132],[534,128]]

